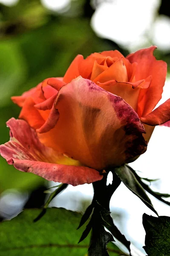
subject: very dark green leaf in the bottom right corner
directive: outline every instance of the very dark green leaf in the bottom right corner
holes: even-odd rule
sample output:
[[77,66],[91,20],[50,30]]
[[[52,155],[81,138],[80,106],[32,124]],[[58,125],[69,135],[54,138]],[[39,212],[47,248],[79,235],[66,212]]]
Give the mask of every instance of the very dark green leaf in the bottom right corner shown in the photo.
[[153,217],[144,213],[146,231],[144,250],[148,256],[170,255],[170,217]]

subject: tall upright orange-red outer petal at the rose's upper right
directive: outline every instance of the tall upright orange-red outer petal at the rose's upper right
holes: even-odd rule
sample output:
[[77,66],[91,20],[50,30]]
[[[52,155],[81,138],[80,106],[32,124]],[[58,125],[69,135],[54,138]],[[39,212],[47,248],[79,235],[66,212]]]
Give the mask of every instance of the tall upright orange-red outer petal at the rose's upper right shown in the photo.
[[135,79],[147,79],[152,76],[152,82],[147,90],[141,90],[138,97],[138,115],[146,116],[153,111],[156,104],[161,99],[163,86],[167,74],[167,64],[164,61],[157,61],[153,56],[155,46],[147,49],[141,49],[127,56],[127,59],[133,63],[137,62]]

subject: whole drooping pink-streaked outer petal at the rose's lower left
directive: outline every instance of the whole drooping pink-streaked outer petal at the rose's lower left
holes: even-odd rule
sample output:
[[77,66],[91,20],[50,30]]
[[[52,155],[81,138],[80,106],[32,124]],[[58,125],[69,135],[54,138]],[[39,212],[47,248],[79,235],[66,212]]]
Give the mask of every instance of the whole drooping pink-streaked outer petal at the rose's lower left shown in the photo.
[[45,147],[26,121],[12,118],[7,125],[11,129],[11,140],[0,145],[0,154],[16,169],[73,186],[102,179],[98,171],[78,166],[78,161]]

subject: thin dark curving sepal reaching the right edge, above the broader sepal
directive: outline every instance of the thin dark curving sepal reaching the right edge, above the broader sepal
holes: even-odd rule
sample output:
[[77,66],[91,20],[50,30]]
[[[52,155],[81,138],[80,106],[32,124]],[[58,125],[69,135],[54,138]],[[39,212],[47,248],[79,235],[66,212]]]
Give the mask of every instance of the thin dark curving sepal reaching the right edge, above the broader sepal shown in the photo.
[[129,168],[131,170],[131,172],[133,172],[133,174],[135,175],[135,178],[138,180],[138,182],[141,184],[141,186],[148,192],[150,193],[151,195],[153,195],[155,198],[157,198],[159,201],[167,204],[167,205],[170,205],[170,202],[167,202],[165,201],[162,197],[165,197],[165,198],[168,198],[170,197],[169,194],[163,194],[163,193],[159,193],[159,192],[155,192],[153,191],[152,189],[150,189],[150,187],[145,184],[142,180],[141,180],[141,177],[139,177],[137,175],[137,173],[135,172],[135,170],[133,170],[130,166],[127,166],[127,168]]

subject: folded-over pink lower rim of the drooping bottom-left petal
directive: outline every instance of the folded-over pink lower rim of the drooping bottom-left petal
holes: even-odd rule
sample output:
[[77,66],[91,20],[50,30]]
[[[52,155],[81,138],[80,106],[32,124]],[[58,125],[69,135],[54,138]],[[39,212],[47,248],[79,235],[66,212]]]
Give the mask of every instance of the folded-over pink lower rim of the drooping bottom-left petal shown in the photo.
[[18,159],[13,160],[13,165],[22,172],[32,172],[46,180],[71,184],[72,186],[89,184],[103,178],[103,175],[100,175],[98,171],[85,166],[67,166]]

